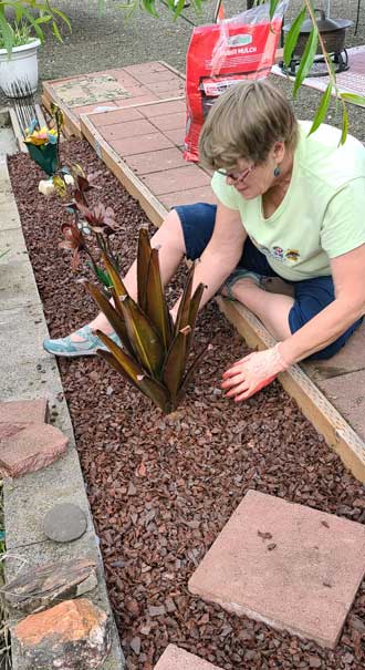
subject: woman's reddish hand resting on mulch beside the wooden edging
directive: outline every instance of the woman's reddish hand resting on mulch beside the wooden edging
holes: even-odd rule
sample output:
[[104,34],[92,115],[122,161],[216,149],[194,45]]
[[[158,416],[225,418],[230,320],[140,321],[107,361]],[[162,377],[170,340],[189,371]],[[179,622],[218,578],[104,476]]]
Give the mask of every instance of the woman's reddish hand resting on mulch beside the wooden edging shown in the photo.
[[270,384],[289,364],[279,351],[280,342],[271,349],[250,353],[223,373],[221,388],[234,402],[247,400]]

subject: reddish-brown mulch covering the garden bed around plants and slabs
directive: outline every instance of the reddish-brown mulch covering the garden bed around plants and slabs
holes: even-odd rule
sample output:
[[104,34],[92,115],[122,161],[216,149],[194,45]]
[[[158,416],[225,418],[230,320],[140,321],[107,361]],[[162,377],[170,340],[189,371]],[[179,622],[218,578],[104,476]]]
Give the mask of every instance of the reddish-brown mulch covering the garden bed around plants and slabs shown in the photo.
[[[117,214],[114,239],[126,269],[145,214],[87,144],[62,151],[87,173],[101,171],[93,196]],[[71,272],[70,254],[58,248],[62,203],[38,194],[43,175],[27,156],[11,157],[9,168],[45,318],[59,337],[86,322],[94,306]],[[98,358],[59,360],[127,668],[152,670],[174,642],[225,670],[361,670],[365,584],[335,651],[188,592],[190,575],[248,488],[365,523],[364,487],[279,383],[238,405],[222,396],[220,374],[244,349],[213,303],[198,322],[199,344],[207,338],[213,350],[171,416]]]

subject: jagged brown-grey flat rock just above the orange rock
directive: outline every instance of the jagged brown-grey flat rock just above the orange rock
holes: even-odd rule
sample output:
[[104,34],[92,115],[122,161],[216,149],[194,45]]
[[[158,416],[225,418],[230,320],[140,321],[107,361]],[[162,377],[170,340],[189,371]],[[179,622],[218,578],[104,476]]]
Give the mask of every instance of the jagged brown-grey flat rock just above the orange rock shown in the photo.
[[95,560],[79,558],[21,573],[4,586],[1,595],[9,607],[29,614],[76,598],[96,586]]

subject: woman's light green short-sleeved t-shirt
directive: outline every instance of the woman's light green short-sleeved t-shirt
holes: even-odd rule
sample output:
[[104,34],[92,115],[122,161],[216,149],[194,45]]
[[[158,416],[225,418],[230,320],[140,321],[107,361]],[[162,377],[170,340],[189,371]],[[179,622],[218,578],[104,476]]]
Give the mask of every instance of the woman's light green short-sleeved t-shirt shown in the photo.
[[300,122],[292,179],[270,218],[261,196],[246,200],[218,173],[211,181],[272,269],[294,281],[331,275],[330,258],[365,244],[365,147],[352,136],[338,147],[340,131],[324,124],[307,136],[310,127]]

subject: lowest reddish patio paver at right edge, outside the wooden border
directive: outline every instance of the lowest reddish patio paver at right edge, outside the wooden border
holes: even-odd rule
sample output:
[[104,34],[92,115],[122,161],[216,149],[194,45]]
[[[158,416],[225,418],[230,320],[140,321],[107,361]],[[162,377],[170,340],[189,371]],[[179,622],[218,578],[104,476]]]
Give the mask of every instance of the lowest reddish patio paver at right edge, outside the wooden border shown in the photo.
[[[364,354],[364,349],[358,350]],[[317,380],[317,385],[330,402],[365,441],[365,370]]]

